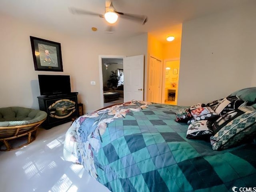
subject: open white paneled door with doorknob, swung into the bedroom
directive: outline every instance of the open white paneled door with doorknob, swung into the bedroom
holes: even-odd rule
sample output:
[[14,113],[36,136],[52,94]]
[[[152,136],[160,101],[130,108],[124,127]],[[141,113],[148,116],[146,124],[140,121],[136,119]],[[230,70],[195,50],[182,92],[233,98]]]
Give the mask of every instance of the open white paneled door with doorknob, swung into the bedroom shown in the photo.
[[124,102],[143,100],[144,55],[124,58]]

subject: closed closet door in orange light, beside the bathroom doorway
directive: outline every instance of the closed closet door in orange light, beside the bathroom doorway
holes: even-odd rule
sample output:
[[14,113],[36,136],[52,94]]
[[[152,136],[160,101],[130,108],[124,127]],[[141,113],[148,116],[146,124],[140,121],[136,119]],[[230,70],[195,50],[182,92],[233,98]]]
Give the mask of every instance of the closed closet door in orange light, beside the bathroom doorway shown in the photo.
[[149,58],[148,74],[148,101],[154,103],[161,102],[162,93],[162,64],[161,61]]

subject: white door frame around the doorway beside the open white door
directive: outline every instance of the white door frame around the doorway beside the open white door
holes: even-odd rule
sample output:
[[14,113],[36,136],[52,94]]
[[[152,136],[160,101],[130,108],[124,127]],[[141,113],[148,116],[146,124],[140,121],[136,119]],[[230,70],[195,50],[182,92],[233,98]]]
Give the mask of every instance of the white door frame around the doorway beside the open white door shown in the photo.
[[104,107],[104,96],[103,96],[103,74],[102,74],[102,59],[124,59],[123,55],[99,55],[99,74],[100,74],[100,106]]

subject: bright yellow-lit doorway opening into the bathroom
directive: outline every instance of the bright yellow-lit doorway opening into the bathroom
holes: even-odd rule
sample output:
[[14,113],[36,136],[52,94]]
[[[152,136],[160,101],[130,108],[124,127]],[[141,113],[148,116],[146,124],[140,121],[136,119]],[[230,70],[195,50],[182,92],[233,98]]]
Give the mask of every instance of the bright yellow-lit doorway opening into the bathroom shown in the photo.
[[177,105],[180,60],[166,60],[164,69],[163,100],[165,104]]

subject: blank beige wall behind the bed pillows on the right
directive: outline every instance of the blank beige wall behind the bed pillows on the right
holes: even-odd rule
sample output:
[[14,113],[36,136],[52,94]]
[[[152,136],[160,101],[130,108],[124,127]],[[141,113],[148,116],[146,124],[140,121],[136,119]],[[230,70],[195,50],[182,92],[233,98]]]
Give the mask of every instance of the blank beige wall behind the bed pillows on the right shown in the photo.
[[255,18],[256,2],[183,24],[178,105],[256,85]]

